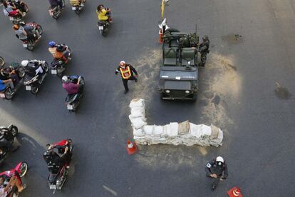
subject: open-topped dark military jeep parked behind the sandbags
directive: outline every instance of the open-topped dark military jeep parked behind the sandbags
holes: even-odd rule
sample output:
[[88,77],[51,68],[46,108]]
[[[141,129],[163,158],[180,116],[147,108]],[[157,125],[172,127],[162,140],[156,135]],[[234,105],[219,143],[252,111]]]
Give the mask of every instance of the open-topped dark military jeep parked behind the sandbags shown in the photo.
[[177,29],[163,35],[159,91],[161,99],[196,100],[198,86],[199,36]]

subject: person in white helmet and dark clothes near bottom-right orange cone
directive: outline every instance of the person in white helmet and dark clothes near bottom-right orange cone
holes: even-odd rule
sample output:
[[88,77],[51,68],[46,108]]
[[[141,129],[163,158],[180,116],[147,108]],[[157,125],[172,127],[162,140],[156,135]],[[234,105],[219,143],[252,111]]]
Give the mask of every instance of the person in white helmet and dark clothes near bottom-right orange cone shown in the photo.
[[227,164],[221,156],[217,156],[217,158],[209,161],[205,167],[205,171],[207,177],[214,178],[211,188],[212,191],[214,191],[217,187],[219,181],[223,181],[229,175],[227,171]]

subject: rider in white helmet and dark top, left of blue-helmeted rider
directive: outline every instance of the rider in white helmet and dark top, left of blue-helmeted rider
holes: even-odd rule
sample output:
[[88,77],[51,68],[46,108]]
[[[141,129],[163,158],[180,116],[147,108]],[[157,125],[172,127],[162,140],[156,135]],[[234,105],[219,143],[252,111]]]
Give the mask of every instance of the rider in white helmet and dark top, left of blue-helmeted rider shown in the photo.
[[26,74],[31,77],[34,77],[36,75],[41,76],[45,74],[45,71],[43,71],[43,67],[41,65],[42,61],[36,59],[21,61],[21,66],[24,66],[26,68]]

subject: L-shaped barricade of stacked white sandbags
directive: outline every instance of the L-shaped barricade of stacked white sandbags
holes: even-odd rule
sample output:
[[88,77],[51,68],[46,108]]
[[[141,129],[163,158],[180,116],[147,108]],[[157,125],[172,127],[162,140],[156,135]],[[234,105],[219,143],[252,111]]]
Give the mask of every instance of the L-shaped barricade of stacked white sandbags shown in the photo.
[[217,126],[194,124],[189,121],[169,123],[165,126],[148,125],[145,118],[144,99],[133,99],[130,102],[131,126],[136,143],[139,144],[183,144],[186,146],[221,146],[223,132]]

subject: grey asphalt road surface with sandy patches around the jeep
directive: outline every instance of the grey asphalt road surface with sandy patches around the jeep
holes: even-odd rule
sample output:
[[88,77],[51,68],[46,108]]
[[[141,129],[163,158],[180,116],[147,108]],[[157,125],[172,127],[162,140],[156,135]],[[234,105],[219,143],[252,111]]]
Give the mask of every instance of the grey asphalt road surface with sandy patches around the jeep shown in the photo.
[[[170,1],[165,11],[170,26],[194,31],[197,24],[198,34],[210,39],[195,103],[159,99],[159,1],[101,2],[113,10],[105,38],[96,26],[98,1],[88,0],[81,16],[67,2],[57,21],[48,15],[46,1],[26,3],[26,21],[41,24],[43,38],[34,51],[26,51],[1,14],[0,56],[8,62],[51,62],[48,41],[68,44],[73,61],[66,74],[81,74],[86,87],[77,113],[68,113],[66,92],[51,75],[38,96],[23,88],[13,101],[0,102],[0,124],[14,123],[21,132],[21,148],[1,171],[19,161],[30,167],[21,196],[52,196],[42,154],[46,143],[63,138],[72,138],[75,148],[71,174],[56,196],[227,196],[233,186],[244,196],[295,196],[295,1]],[[114,74],[121,59],[140,74],[127,95]],[[139,153],[128,156],[132,98],[146,99],[150,124],[214,123],[224,131],[223,146],[140,146]],[[229,178],[212,192],[204,168],[219,155],[227,160]]]

